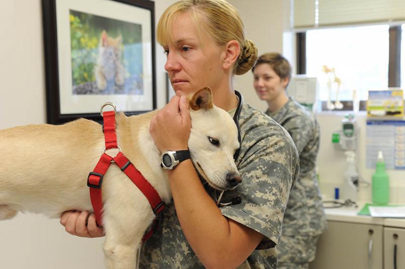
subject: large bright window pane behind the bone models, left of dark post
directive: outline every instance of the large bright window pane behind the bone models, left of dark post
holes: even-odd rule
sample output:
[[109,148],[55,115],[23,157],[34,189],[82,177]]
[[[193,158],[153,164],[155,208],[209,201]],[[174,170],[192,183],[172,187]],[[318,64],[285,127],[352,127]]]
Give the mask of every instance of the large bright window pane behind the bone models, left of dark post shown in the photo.
[[332,73],[322,71],[323,66],[334,68],[341,81],[339,100],[352,100],[353,90],[358,99],[365,100],[368,90],[388,87],[388,25],[308,30],[305,46],[306,74],[318,78],[322,101],[328,100],[329,79],[332,80],[332,100],[336,100],[338,87],[333,83]]

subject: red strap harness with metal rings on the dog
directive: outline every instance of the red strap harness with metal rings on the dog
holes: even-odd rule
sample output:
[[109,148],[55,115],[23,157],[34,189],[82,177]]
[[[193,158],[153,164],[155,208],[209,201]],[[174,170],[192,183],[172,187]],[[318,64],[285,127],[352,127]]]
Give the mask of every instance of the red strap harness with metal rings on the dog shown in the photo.
[[[110,104],[110,103],[108,103]],[[101,110],[106,104],[103,104]],[[112,105],[112,104],[110,104]],[[115,109],[115,106],[114,106]],[[103,183],[103,177],[107,172],[108,167],[111,163],[115,163],[130,179],[131,181],[140,189],[140,191],[148,199],[150,206],[153,209],[153,213],[157,216],[164,208],[165,202],[163,202],[153,188],[152,185],[142,176],[135,166],[130,162],[130,160],[121,152],[121,148],[117,144],[117,136],[115,133],[115,111],[107,111],[101,113],[104,120],[104,138],[105,138],[105,148],[103,149],[103,154],[100,157],[96,167],[93,172],[90,172],[87,179],[87,186],[90,187],[90,198],[94,209],[94,214],[96,216],[96,221],[98,225],[103,223],[103,201],[101,193],[101,185]],[[107,149],[117,148],[119,149],[118,154],[115,157],[111,157],[106,154]],[[143,242],[148,239],[153,233],[153,229],[147,232],[143,237]]]

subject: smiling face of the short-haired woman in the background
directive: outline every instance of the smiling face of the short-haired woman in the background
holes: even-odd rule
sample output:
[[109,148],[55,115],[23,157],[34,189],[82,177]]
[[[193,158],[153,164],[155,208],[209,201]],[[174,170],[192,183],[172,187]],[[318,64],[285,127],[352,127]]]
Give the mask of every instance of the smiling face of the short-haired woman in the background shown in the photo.
[[284,94],[288,79],[281,79],[268,64],[260,64],[253,72],[256,93],[261,100],[272,101]]

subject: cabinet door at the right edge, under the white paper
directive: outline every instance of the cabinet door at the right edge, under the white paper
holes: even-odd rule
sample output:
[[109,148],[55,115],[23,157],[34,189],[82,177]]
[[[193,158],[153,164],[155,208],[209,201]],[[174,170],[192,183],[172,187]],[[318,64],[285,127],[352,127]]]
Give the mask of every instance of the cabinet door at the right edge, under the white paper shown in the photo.
[[405,229],[384,228],[384,269],[405,269]]

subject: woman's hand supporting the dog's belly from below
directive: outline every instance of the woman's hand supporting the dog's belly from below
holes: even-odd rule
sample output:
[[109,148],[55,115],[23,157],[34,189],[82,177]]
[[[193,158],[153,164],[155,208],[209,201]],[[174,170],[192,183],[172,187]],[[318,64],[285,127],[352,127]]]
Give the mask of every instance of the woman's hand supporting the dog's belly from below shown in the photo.
[[65,211],[60,218],[60,223],[71,235],[90,238],[105,235],[104,229],[97,226],[94,213],[88,211]]

